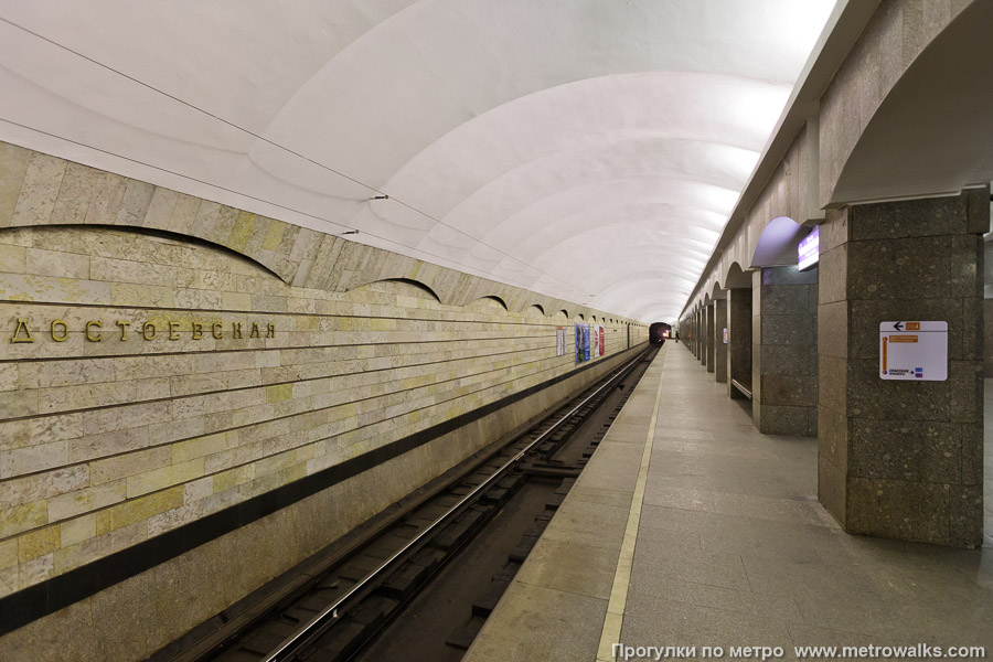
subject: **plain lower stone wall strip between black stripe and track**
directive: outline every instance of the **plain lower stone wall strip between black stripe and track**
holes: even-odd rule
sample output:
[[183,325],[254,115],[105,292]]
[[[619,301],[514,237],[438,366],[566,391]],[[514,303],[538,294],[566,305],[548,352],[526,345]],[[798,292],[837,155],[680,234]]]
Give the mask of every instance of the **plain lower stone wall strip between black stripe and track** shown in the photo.
[[0,637],[0,660],[120,662],[148,656],[389,505],[488,440],[595,382],[638,349],[331,485]]

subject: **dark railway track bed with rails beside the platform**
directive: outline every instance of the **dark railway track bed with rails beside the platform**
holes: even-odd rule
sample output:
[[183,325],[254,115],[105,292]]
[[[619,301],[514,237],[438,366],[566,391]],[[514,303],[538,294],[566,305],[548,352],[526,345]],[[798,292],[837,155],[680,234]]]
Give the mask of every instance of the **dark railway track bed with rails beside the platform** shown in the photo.
[[[346,536],[333,553],[305,562],[267,599],[206,628],[192,644],[163,649],[150,662],[355,659],[528,481],[554,482],[558,488],[553,488],[552,500],[560,502],[656,351],[641,352],[524,434],[468,467],[463,462],[462,470],[447,480],[433,481],[430,489],[391,515]],[[575,433],[608,399],[616,410],[600,413],[600,434],[570,449]],[[470,620],[449,645],[465,648],[471,642],[548,519],[551,513],[535,517],[528,535],[509,555],[506,568],[481,597],[489,607],[473,605]],[[177,648],[183,650],[174,652]]]

